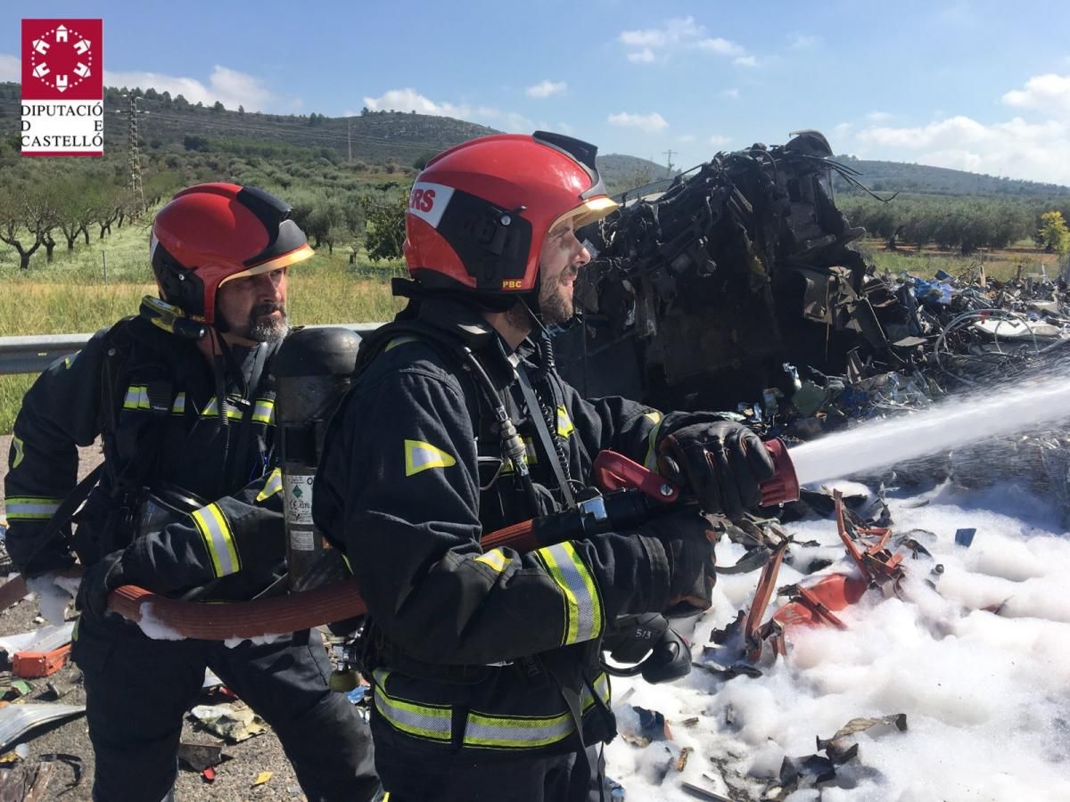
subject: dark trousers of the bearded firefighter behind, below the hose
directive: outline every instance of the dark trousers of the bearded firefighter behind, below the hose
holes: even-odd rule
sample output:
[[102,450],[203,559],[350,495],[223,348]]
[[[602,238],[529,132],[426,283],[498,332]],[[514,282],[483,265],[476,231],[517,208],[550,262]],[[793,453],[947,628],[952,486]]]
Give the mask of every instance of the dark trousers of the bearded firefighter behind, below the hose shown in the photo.
[[182,720],[205,667],[271,725],[309,802],[365,802],[379,791],[368,726],[327,689],[331,663],[317,632],[227,648],[150,641],[126,623],[82,619],[72,651],[85,678],[94,802],[167,798]]

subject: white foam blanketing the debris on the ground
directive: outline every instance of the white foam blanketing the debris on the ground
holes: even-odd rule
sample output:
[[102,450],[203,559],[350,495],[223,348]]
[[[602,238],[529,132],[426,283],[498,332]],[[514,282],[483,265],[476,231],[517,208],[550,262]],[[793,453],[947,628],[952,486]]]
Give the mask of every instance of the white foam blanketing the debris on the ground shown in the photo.
[[[685,780],[732,796],[721,772],[733,798],[758,800],[775,783],[777,755],[813,754],[814,736],[891,713],[906,713],[907,731],[859,734],[857,760],[822,786],[822,802],[1070,800],[1070,536],[1058,511],[1005,485],[941,488],[924,497],[923,507],[910,506],[917,497],[889,505],[893,533],[935,533],[923,542],[946,568],[937,590],[926,584],[933,560],[907,559],[903,599],[867,596],[841,615],[846,631],[792,630],[789,659],[760,678],[725,681],[694,669],[670,685],[613,681],[615,698],[633,688],[627,705],[661,711],[677,745],[696,750],[683,773],[670,769],[658,783],[649,765],[663,746],[647,754],[657,744],[610,744],[608,773],[629,800],[691,800]],[[969,549],[954,543],[962,527],[977,528]],[[789,529],[828,547],[838,542],[832,521]],[[722,562],[739,553],[718,547]],[[795,580],[785,567],[778,585]],[[713,608],[694,626],[697,659],[709,631],[749,604],[755,582],[756,574],[720,577]],[[993,603],[1004,604],[999,615],[981,610]],[[730,708],[734,724],[725,720]],[[679,725],[692,716],[693,727]],[[789,799],[819,796],[800,789]]]

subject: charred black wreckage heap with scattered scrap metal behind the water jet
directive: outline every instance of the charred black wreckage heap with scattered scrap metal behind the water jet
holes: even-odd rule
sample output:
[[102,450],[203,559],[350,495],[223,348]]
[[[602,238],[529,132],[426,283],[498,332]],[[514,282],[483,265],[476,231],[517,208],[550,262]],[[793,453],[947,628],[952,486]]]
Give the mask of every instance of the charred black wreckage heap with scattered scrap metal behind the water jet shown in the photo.
[[[565,377],[587,396],[727,410],[798,442],[1020,381],[1068,353],[1061,279],[1020,269],[997,281],[983,264],[877,275],[830,178],[858,182],[831,156],[817,132],[719,153],[582,229],[597,256],[577,282],[581,320],[556,336]],[[1033,433],[1000,457],[1070,510],[1066,445]],[[984,481],[962,453],[926,471]]]

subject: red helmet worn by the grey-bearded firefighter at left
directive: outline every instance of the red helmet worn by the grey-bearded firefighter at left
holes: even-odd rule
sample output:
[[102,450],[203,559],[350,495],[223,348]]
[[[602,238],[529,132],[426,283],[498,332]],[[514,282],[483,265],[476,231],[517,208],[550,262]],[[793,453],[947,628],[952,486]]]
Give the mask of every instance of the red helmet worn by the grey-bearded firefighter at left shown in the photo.
[[168,201],[152,223],[149,258],[160,297],[215,323],[227,281],[301,262],[312,249],[292,206],[257,187],[198,184]]

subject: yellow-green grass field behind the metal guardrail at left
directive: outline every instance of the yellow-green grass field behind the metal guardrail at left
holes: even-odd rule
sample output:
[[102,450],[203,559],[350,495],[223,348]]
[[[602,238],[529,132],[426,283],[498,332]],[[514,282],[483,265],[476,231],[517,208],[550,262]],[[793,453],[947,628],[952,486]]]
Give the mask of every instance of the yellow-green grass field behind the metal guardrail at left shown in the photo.
[[[78,245],[71,255],[63,245],[46,265],[34,255],[30,269],[19,271],[9,252],[0,261],[0,337],[13,335],[95,331],[137,312],[146,294],[155,294],[148,265],[144,227],[124,226],[103,241]],[[104,283],[102,253],[107,255]],[[389,278],[404,275],[401,262],[373,264],[326,248],[290,272],[290,322],[363,323],[386,321],[402,303],[393,297]],[[0,376],[0,433],[11,431],[22,396],[35,376]],[[0,454],[2,457],[2,454]]]

